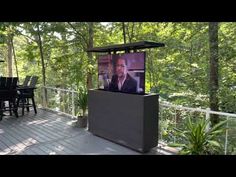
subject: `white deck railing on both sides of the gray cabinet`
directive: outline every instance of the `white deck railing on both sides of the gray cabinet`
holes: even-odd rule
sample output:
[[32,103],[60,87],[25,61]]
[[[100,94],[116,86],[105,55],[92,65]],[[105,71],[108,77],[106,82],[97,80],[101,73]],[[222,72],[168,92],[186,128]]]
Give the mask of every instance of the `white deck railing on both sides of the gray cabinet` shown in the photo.
[[[43,90],[46,92],[43,92]],[[38,89],[40,90],[40,89]],[[45,91],[44,90],[44,91]],[[47,96],[42,96],[47,93]],[[77,116],[80,111],[77,105],[78,92],[74,90],[61,89],[55,87],[42,87],[38,93],[37,100],[41,106],[46,109],[66,114],[72,118]],[[44,99],[47,99],[44,100]],[[45,104],[46,102],[46,104]],[[209,119],[211,114],[219,115],[221,119],[227,119],[227,129],[224,134],[224,154],[236,152],[236,114],[211,111],[209,108],[190,108],[179,105],[173,105],[166,102],[159,104],[159,141],[170,143],[180,140],[173,133],[174,127],[183,127],[186,117],[202,117]]]

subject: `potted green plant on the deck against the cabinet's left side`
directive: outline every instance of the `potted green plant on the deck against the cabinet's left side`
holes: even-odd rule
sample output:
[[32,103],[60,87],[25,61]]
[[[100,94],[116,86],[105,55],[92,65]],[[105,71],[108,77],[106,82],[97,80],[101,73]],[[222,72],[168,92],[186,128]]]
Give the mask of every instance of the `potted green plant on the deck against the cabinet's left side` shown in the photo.
[[88,92],[86,89],[79,90],[77,103],[80,109],[77,115],[78,118],[77,124],[79,127],[85,128],[87,127],[87,122],[88,122],[88,115],[86,114],[88,107]]

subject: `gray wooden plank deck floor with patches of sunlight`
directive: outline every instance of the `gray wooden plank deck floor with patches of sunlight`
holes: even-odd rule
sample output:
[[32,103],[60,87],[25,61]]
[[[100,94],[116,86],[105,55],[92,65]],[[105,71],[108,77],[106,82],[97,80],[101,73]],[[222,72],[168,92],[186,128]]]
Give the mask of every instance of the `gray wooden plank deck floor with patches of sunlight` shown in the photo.
[[[163,151],[163,149],[161,150]],[[148,154],[165,154],[152,150]],[[73,126],[73,120],[38,109],[0,121],[0,155],[139,155]],[[168,154],[168,153],[166,153]]]

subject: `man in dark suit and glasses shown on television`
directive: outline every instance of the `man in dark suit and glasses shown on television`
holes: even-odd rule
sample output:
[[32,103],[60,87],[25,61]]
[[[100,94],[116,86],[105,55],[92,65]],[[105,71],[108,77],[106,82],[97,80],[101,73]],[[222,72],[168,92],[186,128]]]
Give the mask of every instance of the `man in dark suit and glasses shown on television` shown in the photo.
[[119,57],[115,65],[115,74],[109,85],[110,91],[137,93],[137,81],[128,74],[126,58]]

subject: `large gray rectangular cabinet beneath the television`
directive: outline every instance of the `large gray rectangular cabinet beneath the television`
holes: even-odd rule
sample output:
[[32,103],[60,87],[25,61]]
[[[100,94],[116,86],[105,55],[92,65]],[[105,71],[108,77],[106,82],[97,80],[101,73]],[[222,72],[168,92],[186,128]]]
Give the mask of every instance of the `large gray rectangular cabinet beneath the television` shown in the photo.
[[88,92],[88,129],[131,149],[148,152],[158,143],[159,95],[103,90]]

